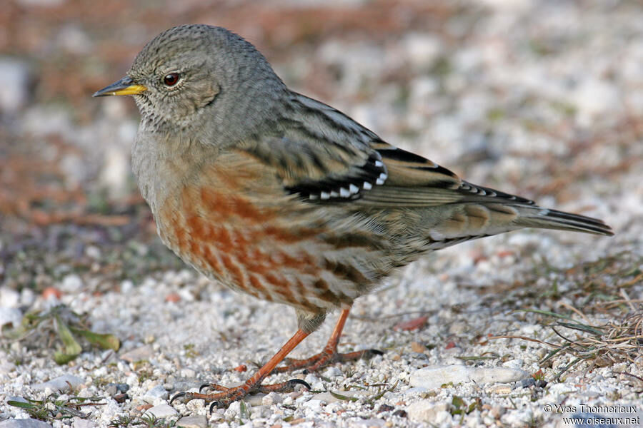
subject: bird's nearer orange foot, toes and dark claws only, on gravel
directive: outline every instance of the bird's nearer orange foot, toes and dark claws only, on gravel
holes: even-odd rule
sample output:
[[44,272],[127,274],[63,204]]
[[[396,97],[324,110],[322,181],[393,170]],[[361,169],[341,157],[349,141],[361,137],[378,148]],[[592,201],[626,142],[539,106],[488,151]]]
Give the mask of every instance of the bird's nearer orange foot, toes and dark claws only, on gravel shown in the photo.
[[[250,379],[251,380],[251,379]],[[210,412],[212,409],[225,409],[232,402],[236,402],[240,399],[243,399],[248,394],[253,394],[256,392],[263,392],[268,394],[269,392],[292,392],[296,385],[303,385],[307,389],[311,389],[310,385],[307,382],[304,382],[301,379],[290,379],[286,382],[281,382],[278,384],[262,385],[261,381],[259,382],[246,382],[238,387],[226,388],[222,387],[219,384],[202,384],[199,387],[199,392],[179,392],[170,399],[169,404],[172,404],[175,399],[182,398],[186,401],[192,399],[204,399],[206,403],[210,403]],[[203,389],[209,388],[214,389],[214,391],[219,391],[217,394],[203,394],[201,391]]]

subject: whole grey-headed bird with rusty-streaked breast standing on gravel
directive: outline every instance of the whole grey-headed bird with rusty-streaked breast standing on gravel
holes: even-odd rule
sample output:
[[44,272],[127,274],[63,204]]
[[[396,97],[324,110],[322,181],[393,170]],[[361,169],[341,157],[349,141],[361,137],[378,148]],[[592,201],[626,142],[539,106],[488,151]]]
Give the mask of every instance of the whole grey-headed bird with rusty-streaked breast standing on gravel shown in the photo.
[[[124,78],[94,96],[133,96],[131,165],[163,243],[211,280],[294,308],[298,329],[236,387],[181,392],[226,407],[270,374],[318,370],[340,354],[353,302],[422,255],[522,228],[613,235],[602,220],[462,180],[346,114],[291,91],[248,41],[181,25],[149,41]],[[324,349],[291,350],[341,311]],[[375,351],[373,351],[375,352]],[[371,353],[373,353],[371,352]]]

